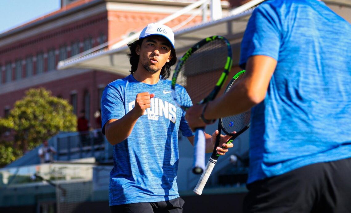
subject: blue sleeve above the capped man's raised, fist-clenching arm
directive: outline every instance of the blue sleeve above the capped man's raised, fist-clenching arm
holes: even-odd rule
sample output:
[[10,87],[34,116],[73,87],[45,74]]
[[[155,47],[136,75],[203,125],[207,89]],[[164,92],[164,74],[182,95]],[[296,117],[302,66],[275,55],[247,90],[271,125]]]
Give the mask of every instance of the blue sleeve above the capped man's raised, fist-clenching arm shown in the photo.
[[101,97],[102,134],[105,134],[105,124],[111,119],[120,119],[125,115],[124,100],[121,91],[112,85],[107,85]]

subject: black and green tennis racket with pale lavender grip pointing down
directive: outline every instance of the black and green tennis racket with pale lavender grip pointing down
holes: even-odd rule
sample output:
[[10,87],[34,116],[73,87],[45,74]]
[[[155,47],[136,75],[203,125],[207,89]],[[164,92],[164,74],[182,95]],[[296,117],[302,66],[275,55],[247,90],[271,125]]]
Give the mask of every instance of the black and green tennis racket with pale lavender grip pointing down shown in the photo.
[[[223,87],[232,62],[231,45],[223,36],[207,37],[193,45],[179,59],[173,73],[171,91],[176,104],[187,110],[195,103],[204,104],[213,100]],[[182,86],[186,88],[193,104],[182,101],[185,98]],[[201,174],[204,169],[205,133],[204,128],[197,128],[194,139],[193,172]]]

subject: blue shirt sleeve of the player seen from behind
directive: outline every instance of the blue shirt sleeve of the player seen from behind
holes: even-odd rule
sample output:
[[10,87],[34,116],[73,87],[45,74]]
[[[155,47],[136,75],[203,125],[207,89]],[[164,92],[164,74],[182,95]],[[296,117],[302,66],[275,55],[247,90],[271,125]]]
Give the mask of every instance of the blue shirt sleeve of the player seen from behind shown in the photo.
[[247,23],[241,41],[239,66],[245,69],[247,59],[254,55],[270,56],[278,61],[281,36],[279,12],[268,3],[257,7]]

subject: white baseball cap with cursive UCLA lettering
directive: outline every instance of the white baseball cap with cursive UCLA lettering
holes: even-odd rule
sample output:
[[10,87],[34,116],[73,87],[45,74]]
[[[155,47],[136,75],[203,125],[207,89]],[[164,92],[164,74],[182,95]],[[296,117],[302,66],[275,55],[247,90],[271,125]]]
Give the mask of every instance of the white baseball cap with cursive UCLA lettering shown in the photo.
[[166,25],[159,24],[159,23],[148,24],[143,29],[143,31],[141,31],[139,39],[146,38],[152,35],[161,35],[166,37],[171,42],[172,47],[174,48],[174,34],[170,27],[167,27]]

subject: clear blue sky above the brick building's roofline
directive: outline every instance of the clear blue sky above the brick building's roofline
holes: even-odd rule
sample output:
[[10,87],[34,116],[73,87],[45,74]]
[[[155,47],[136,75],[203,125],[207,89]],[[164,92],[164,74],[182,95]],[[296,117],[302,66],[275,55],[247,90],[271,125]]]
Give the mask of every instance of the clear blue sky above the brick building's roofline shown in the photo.
[[60,0],[0,0],[0,34],[60,8]]

